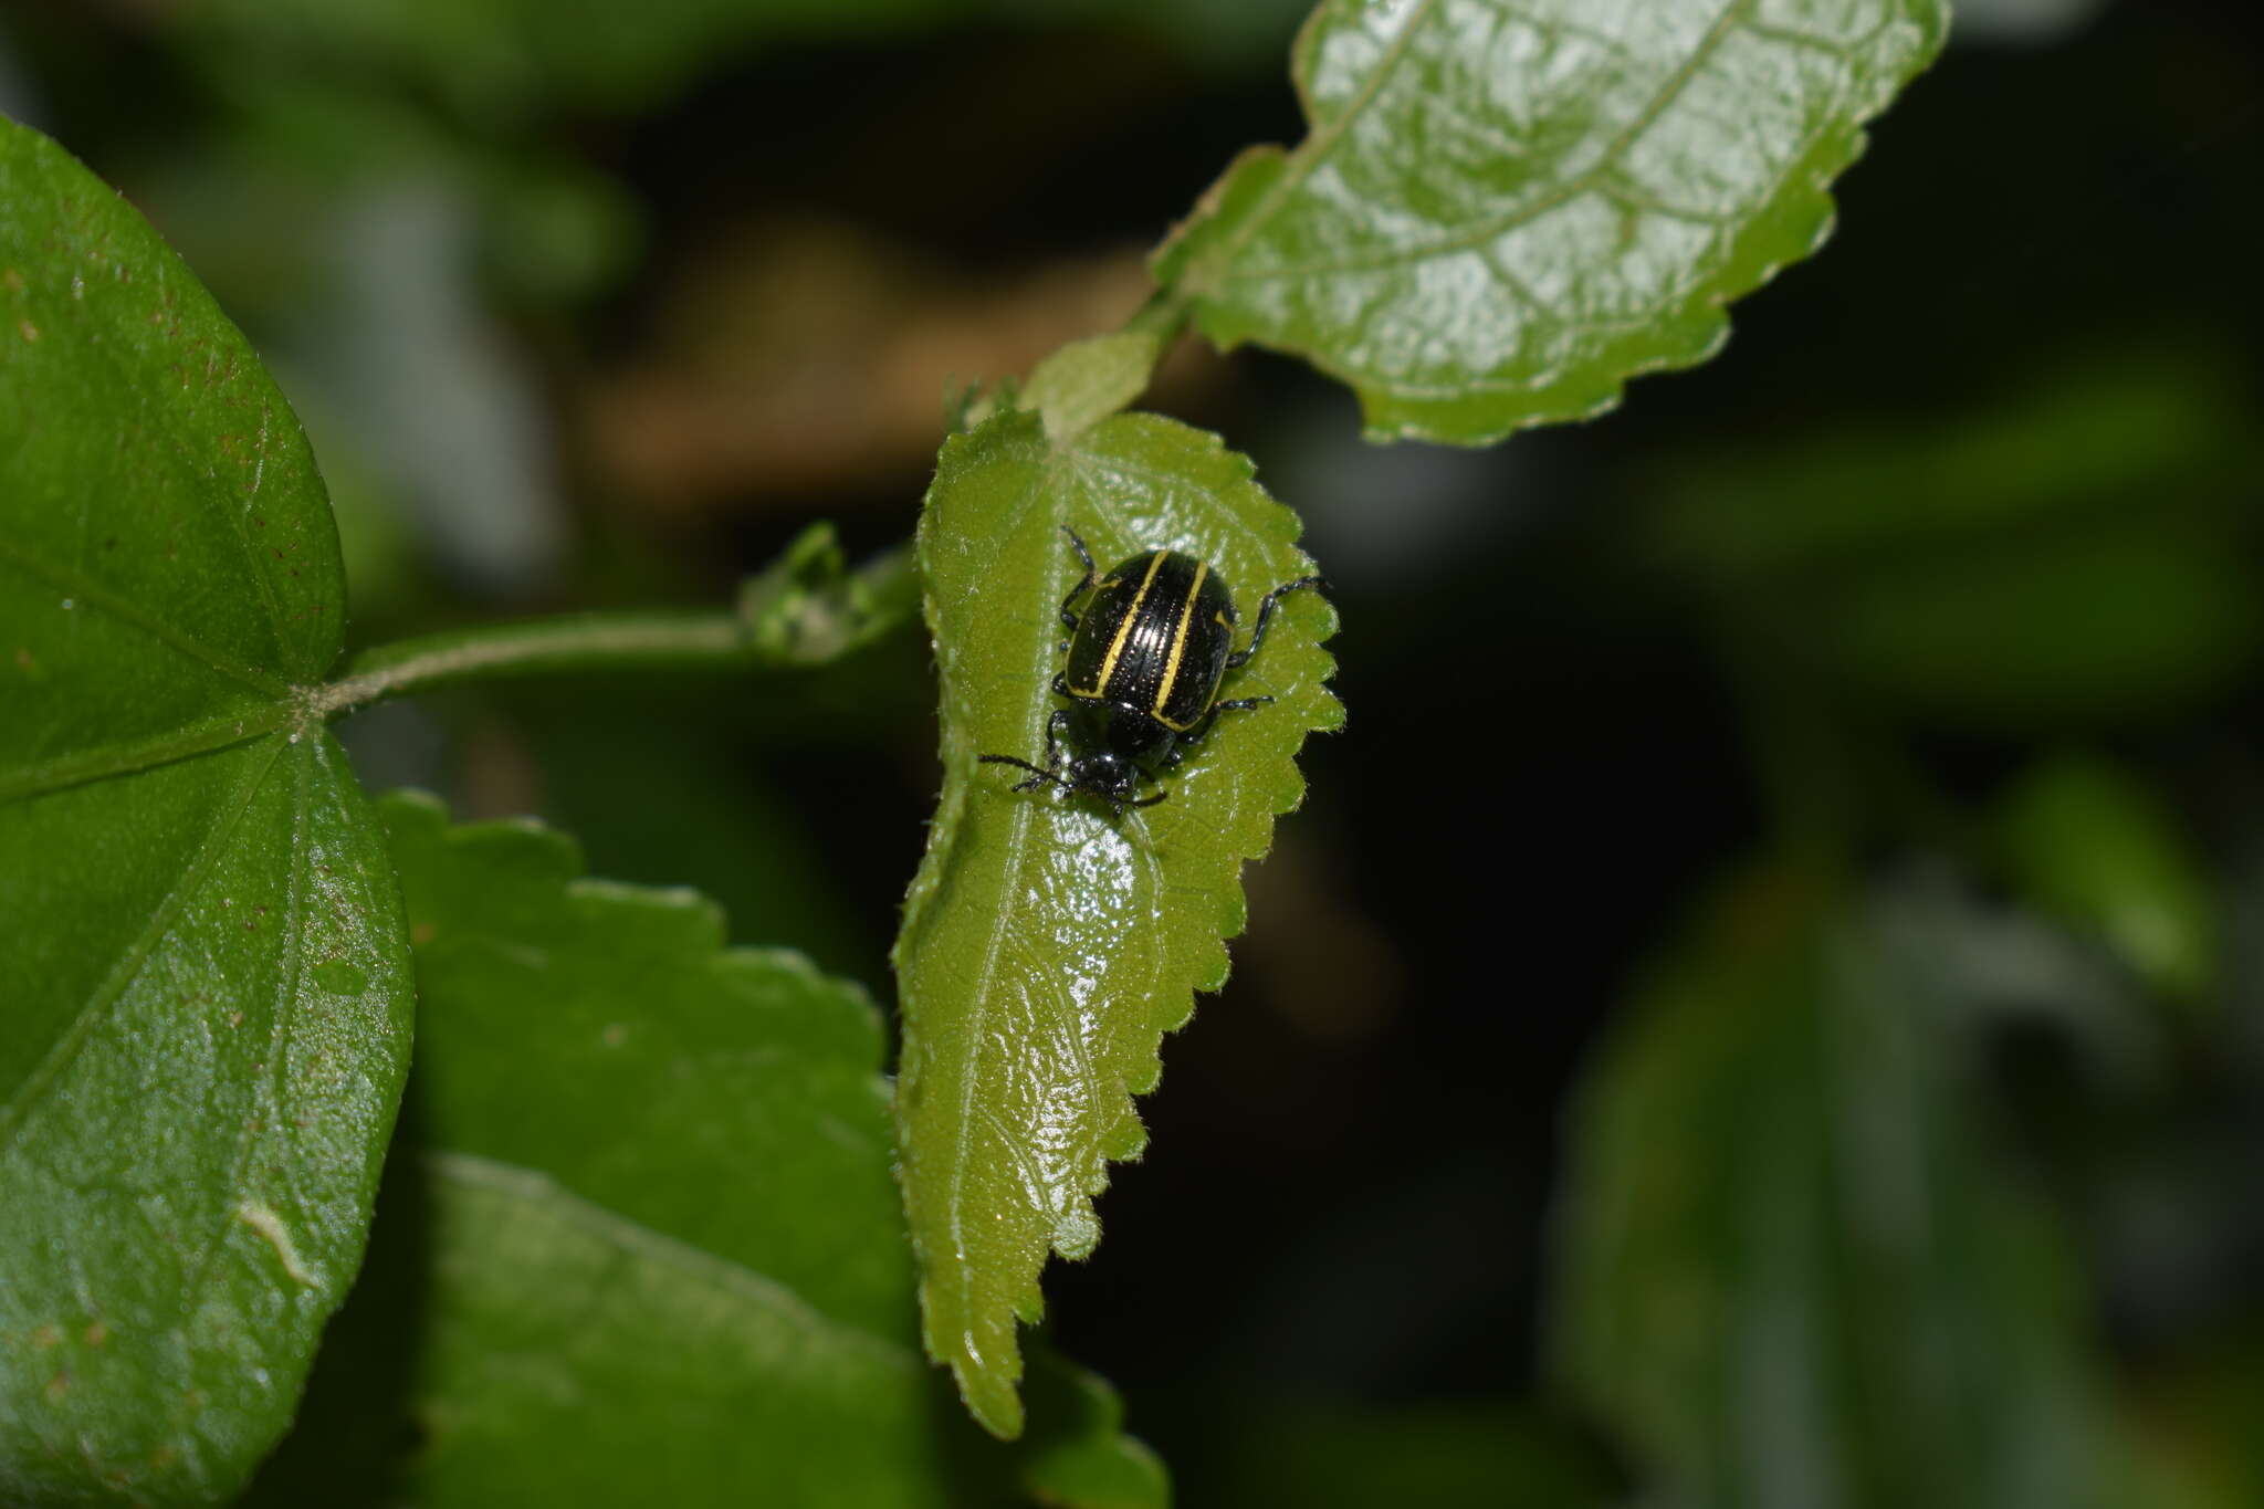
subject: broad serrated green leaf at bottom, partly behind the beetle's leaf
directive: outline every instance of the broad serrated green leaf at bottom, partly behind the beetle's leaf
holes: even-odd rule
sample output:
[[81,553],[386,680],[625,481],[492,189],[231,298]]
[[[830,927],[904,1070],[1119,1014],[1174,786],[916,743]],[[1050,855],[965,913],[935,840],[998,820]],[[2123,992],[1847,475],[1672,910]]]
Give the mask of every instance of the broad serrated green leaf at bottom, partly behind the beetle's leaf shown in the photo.
[[408,1502],[1164,1502],[1098,1380],[1053,1369],[1017,1457],[921,1362],[863,991],[534,824],[380,810],[426,1020]]

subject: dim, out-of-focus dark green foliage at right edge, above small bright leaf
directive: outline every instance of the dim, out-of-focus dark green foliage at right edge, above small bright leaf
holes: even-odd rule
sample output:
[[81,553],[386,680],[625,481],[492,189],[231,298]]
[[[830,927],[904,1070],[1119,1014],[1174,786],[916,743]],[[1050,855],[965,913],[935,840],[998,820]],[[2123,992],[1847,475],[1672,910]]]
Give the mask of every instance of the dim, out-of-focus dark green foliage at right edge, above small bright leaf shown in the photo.
[[1698,450],[1650,473],[1650,550],[1834,699],[1983,733],[2176,713],[2264,633],[2244,385],[2212,344],[2117,353],[1954,416]]

